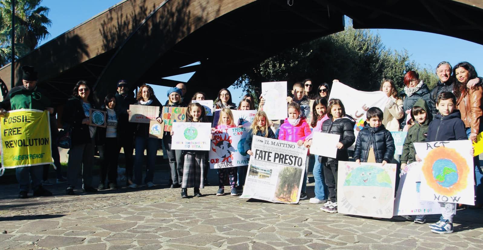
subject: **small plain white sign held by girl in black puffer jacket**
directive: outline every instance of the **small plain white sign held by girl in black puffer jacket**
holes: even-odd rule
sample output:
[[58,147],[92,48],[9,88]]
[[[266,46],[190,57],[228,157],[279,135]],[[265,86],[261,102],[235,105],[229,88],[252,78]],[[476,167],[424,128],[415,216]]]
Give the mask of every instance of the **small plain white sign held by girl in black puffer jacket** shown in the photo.
[[326,157],[337,157],[337,143],[341,139],[340,135],[315,132],[312,137],[310,153]]

